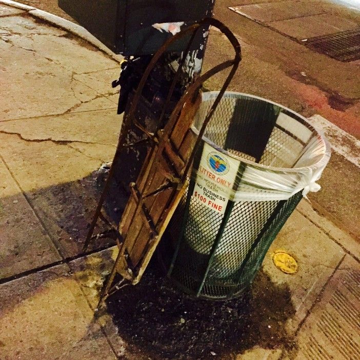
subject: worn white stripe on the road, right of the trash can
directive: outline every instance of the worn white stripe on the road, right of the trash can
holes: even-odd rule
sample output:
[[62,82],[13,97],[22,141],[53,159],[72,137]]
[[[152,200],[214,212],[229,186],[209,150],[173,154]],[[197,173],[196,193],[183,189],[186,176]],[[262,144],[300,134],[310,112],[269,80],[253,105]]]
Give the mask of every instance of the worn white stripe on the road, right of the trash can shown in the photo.
[[350,163],[360,167],[360,141],[321,115],[308,118],[309,123],[324,133],[333,151],[344,156]]

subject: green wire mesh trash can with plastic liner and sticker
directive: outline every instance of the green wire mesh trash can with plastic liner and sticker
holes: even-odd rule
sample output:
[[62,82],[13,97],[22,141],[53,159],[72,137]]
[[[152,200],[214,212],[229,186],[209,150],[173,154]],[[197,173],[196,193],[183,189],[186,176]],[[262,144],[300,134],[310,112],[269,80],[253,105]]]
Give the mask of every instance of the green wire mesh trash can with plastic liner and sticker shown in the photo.
[[[217,94],[203,94],[194,137]],[[243,294],[296,205],[319,190],[329,158],[328,143],[301,115],[225,92],[159,249],[168,276],[198,297]]]

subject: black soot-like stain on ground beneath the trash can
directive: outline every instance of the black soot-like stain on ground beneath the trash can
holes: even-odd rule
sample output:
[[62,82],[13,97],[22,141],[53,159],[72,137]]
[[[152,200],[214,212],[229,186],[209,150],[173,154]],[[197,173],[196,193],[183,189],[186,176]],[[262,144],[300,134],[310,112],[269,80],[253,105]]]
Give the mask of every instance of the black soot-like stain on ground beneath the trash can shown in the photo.
[[289,289],[262,271],[244,297],[213,302],[175,289],[153,261],[139,284],[108,298],[107,308],[131,344],[128,358],[229,359],[255,345],[294,347],[284,328],[294,314]]

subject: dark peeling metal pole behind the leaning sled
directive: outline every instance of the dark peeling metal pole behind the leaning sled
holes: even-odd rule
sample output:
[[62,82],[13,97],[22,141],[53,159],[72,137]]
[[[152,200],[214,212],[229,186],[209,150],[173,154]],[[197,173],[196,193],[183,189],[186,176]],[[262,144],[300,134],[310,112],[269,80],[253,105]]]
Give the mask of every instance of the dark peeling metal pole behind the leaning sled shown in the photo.
[[[202,1],[209,5],[208,13],[211,15],[215,2],[209,0]],[[153,133],[156,129],[162,128],[166,124],[175,104],[181,98],[188,85],[200,74],[208,38],[208,28],[203,28],[202,31],[203,36],[198,37],[200,40],[198,40],[197,44],[193,42],[195,33],[189,42],[189,48],[192,44],[192,48],[195,47],[196,50],[189,51],[189,48],[187,48],[180,54],[165,54],[162,61],[156,64],[155,69],[149,76],[146,91],[144,91],[146,95],[143,94],[141,96],[136,110],[138,124],[148,133]],[[124,119],[128,116],[133,94],[151,58],[149,55],[138,56],[135,59],[128,57],[127,62],[121,66],[122,73],[120,78],[118,81],[113,82],[114,87],[121,85],[118,114],[124,112]],[[174,63],[177,63],[177,69],[173,68],[172,64]],[[174,79],[176,81],[178,79],[178,85],[174,92],[176,95],[171,99],[170,94],[173,93],[175,87]],[[119,210],[116,217],[121,218],[130,196],[128,185],[136,181],[148,154],[149,144],[143,142],[144,132],[134,126],[130,129],[124,129],[124,125],[127,126],[126,120],[122,126],[122,133],[128,133],[125,144],[138,144],[138,146],[126,147],[126,151],[120,153],[116,151],[116,162],[111,166],[108,180],[90,224],[83,251],[87,250],[91,242],[101,209],[109,199],[107,193],[110,187],[115,189],[111,199],[112,201],[115,200],[116,208]]]

